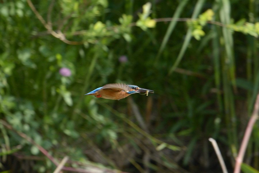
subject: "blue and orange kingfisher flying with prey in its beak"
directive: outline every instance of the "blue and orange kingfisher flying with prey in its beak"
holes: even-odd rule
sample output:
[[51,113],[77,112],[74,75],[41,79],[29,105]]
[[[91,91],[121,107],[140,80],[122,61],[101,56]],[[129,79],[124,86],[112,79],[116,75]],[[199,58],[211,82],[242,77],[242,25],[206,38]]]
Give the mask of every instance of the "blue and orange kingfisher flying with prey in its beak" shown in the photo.
[[140,88],[136,85],[115,83],[115,84],[106,84],[85,95],[94,95],[95,97],[98,97],[98,98],[119,100],[119,99],[124,99],[125,97],[128,97],[129,95],[134,93],[144,93],[148,95],[148,93],[154,93],[154,91]]

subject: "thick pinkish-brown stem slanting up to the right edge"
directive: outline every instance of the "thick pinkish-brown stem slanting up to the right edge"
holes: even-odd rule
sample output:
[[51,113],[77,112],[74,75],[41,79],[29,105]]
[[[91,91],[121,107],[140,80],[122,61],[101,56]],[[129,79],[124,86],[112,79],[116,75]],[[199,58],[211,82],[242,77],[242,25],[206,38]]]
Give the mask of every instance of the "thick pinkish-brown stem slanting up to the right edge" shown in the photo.
[[250,118],[250,120],[247,124],[246,129],[245,129],[244,138],[242,140],[242,143],[241,143],[241,146],[240,146],[240,149],[239,149],[239,153],[238,153],[237,158],[236,158],[234,173],[240,172],[241,163],[243,162],[245,150],[246,150],[249,138],[251,136],[252,129],[254,127],[254,124],[255,124],[256,120],[258,119],[258,113],[259,113],[259,93],[256,97],[256,102],[254,104],[254,111],[253,111],[252,116],[251,116],[251,118]]

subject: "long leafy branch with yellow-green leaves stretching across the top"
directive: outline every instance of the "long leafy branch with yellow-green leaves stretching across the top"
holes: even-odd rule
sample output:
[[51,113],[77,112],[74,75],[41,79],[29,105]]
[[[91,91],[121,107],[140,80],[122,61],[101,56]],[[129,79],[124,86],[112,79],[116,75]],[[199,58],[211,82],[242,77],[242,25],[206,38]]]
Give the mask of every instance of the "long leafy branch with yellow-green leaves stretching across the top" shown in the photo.
[[[64,26],[64,21],[68,20],[71,16],[66,16],[62,22],[58,24],[58,30],[53,30],[52,21],[51,21],[51,13],[53,9],[55,0],[52,0],[51,4],[49,5],[49,9],[47,12],[47,22],[44,18],[39,14],[36,10],[35,6],[31,2],[31,0],[27,0],[28,5],[30,6],[31,10],[35,13],[37,18],[41,21],[44,27],[47,29],[46,32],[38,33],[36,36],[51,34],[54,37],[60,39],[66,44],[84,44],[84,43],[97,43],[97,38],[100,37],[114,37],[114,35],[123,35],[126,41],[130,42],[131,38],[128,33],[130,33],[130,28],[133,26],[138,26],[142,30],[146,31],[147,28],[154,28],[156,22],[169,22],[169,21],[180,21],[180,22],[187,22],[188,27],[192,29],[192,36],[195,37],[196,40],[200,40],[202,36],[205,35],[203,31],[203,27],[206,24],[213,24],[218,25],[221,27],[226,27],[232,29],[233,31],[241,32],[244,34],[249,34],[254,37],[258,37],[259,35],[259,22],[253,24],[249,22],[245,22],[245,20],[240,20],[235,24],[223,24],[217,21],[213,21],[214,12],[211,9],[208,9],[204,13],[200,14],[197,19],[193,18],[154,18],[151,19],[149,15],[151,14],[151,3],[146,3],[143,5],[143,12],[139,13],[139,19],[136,22],[132,22],[132,16],[123,14],[121,18],[119,18],[120,25],[117,26],[107,26],[106,24],[98,21],[95,24],[90,24],[89,29],[81,30],[81,31],[73,31],[63,33],[61,28]],[[73,13],[73,12],[72,12]],[[113,31],[113,32],[110,32]],[[85,40],[76,42],[67,40],[67,36],[71,35],[83,35]],[[117,37],[118,38],[118,37]]]

